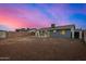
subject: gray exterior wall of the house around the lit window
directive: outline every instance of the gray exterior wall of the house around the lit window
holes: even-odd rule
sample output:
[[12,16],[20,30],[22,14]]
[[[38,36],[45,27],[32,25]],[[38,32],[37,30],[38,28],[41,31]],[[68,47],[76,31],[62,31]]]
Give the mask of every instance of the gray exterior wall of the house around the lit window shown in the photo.
[[71,30],[65,30],[64,35],[61,34],[61,30],[58,30],[57,33],[52,33],[51,37],[54,37],[54,38],[71,38]]

